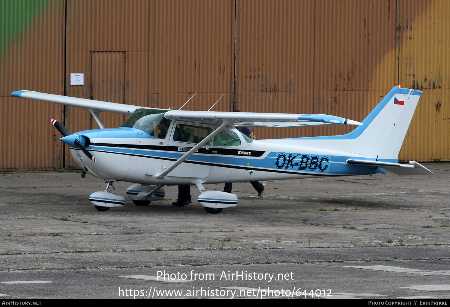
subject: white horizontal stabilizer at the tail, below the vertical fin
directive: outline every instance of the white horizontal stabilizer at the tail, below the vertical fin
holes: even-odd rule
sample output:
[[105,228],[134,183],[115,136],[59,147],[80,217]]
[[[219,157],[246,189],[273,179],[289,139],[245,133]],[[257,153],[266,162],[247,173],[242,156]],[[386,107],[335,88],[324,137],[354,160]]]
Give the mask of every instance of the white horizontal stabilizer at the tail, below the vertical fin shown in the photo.
[[366,166],[376,166],[384,168],[387,171],[392,171],[393,173],[401,176],[405,175],[430,175],[433,172],[428,168],[424,167],[419,162],[410,161],[410,164],[383,162],[383,161],[373,161],[373,160],[354,160],[348,159],[348,164],[353,165],[366,165]]

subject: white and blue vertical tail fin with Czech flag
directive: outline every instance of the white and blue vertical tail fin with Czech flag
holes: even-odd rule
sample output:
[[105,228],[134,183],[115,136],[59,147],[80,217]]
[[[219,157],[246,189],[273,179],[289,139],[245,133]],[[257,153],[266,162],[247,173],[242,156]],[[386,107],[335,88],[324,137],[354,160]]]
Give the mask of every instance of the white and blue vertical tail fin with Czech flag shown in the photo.
[[422,94],[409,88],[392,88],[364,119],[364,126],[347,134],[351,152],[377,160],[397,160]]

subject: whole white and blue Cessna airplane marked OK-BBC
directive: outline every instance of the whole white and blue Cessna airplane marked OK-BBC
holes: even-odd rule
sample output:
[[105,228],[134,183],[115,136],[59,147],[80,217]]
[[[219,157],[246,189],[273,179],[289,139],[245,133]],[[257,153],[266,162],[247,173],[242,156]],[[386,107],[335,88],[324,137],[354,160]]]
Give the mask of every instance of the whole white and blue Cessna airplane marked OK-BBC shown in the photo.
[[[114,181],[134,183],[126,193],[138,206],[164,198],[167,184],[193,184],[208,213],[238,203],[235,194],[207,191],[203,184],[372,175],[432,173],[418,162],[398,163],[398,153],[423,92],[396,86],[362,123],[326,114],[275,114],[184,111],[144,108],[105,101],[16,91],[20,98],[85,108],[100,129],[71,133],[58,121],[75,161],[86,173],[105,180],[104,191],[90,195],[99,211],[123,206],[110,191]],[[189,98],[190,99],[190,98]],[[101,112],[130,115],[121,127],[106,129]],[[338,136],[252,140],[235,127],[311,127],[357,125]]]

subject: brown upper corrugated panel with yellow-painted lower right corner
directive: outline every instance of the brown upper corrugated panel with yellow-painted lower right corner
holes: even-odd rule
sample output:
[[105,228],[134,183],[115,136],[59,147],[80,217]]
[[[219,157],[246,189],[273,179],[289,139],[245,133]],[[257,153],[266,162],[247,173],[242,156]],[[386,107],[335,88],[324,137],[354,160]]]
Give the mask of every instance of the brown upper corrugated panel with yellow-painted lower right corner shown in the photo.
[[316,89],[389,90],[396,85],[398,13],[395,1],[317,0],[315,3]]

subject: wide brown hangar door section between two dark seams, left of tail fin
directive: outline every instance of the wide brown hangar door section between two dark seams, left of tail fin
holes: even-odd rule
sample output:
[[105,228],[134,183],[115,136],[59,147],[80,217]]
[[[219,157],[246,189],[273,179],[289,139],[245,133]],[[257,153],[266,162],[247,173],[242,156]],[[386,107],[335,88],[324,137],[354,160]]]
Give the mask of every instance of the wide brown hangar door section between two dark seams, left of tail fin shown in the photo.
[[[260,101],[246,99],[250,92],[302,96],[294,91],[306,90],[311,92],[302,99],[311,102],[302,113],[362,120],[396,84],[396,12],[388,0],[238,2],[236,101],[259,109]],[[267,111],[293,112],[288,101]],[[320,136],[353,128],[266,129],[263,136]]]

